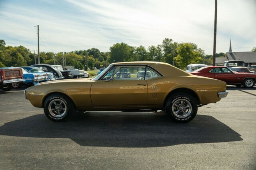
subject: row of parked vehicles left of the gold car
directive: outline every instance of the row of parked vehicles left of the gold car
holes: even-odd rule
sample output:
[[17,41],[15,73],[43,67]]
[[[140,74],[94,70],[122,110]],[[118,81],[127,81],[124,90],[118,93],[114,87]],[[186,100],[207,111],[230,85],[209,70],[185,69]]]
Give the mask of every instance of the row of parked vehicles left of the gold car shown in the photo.
[[[0,88],[4,91],[20,88],[22,85],[33,86],[39,82],[71,78],[89,78],[84,70],[63,69],[61,65],[34,64],[23,67],[0,68]],[[73,74],[73,75],[72,75]]]

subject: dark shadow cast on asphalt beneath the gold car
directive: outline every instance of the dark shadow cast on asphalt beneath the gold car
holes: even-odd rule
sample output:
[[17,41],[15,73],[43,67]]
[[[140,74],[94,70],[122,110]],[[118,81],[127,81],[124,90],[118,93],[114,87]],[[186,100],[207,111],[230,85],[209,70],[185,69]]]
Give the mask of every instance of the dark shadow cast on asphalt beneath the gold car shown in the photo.
[[164,147],[243,140],[212,116],[196,115],[191,122],[174,123],[168,115],[132,112],[74,113],[66,122],[52,122],[38,114],[5,123],[0,135],[69,138],[79,145],[95,147]]

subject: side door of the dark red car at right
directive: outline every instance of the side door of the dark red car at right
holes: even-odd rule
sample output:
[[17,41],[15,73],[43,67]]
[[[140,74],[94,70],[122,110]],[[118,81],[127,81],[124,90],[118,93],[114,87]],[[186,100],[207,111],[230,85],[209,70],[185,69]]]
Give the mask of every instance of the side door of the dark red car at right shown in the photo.
[[236,83],[237,78],[234,72],[231,72],[226,67],[217,67],[215,68],[215,79],[222,80],[226,83]]

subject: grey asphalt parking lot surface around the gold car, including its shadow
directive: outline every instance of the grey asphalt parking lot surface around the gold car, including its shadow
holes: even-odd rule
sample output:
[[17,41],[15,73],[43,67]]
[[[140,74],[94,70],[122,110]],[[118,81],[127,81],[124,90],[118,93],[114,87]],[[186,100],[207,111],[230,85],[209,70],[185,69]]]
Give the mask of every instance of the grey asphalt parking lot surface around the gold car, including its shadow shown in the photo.
[[174,123],[163,113],[74,113],[54,123],[0,92],[0,169],[256,169],[256,86]]

